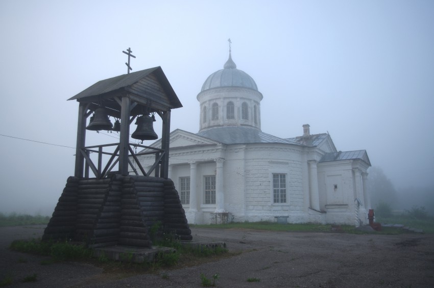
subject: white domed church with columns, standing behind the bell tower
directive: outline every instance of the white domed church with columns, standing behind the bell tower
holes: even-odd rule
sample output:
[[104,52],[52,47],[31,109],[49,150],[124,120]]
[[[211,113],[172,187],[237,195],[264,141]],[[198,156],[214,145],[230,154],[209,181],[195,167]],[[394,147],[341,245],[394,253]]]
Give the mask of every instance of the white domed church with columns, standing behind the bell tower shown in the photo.
[[[366,150],[338,151],[328,133],[311,135],[308,124],[294,138],[262,132],[262,97],[229,51],[197,96],[199,132],[170,134],[168,175],[188,223],[366,224]],[[155,158],[139,161],[149,168]]]

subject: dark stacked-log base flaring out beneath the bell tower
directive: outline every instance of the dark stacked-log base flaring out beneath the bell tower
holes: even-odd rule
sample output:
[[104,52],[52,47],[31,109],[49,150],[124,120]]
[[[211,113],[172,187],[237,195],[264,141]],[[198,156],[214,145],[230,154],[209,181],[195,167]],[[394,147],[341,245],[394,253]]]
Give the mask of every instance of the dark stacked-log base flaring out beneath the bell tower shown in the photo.
[[89,247],[151,247],[152,226],[190,241],[185,212],[171,179],[112,175],[69,177],[43,240],[75,240]]

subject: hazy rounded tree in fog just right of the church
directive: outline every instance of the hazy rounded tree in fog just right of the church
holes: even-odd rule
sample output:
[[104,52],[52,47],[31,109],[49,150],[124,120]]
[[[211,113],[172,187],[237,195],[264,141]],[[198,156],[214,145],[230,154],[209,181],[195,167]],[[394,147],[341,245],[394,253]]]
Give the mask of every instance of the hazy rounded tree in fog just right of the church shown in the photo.
[[379,167],[371,167],[368,173],[366,188],[371,196],[371,206],[375,209],[380,203],[385,203],[390,207],[396,207],[398,193],[383,170]]

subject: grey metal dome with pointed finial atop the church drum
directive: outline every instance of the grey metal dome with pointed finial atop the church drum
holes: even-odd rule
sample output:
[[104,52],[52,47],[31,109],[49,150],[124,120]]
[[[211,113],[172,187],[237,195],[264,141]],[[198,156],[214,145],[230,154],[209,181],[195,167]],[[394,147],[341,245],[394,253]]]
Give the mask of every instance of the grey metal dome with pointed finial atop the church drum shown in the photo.
[[243,87],[258,91],[255,81],[246,72],[236,69],[229,52],[229,59],[223,69],[215,71],[206,78],[202,91],[219,87]]

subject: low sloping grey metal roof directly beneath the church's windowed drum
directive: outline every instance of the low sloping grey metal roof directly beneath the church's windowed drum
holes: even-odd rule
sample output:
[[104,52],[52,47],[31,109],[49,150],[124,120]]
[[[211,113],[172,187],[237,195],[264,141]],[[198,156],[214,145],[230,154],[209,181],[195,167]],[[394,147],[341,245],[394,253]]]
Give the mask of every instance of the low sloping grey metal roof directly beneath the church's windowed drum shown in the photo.
[[285,143],[300,145],[299,143],[293,142],[291,140],[263,133],[259,129],[250,127],[215,127],[203,130],[197,133],[197,135],[219,141],[224,144]]

